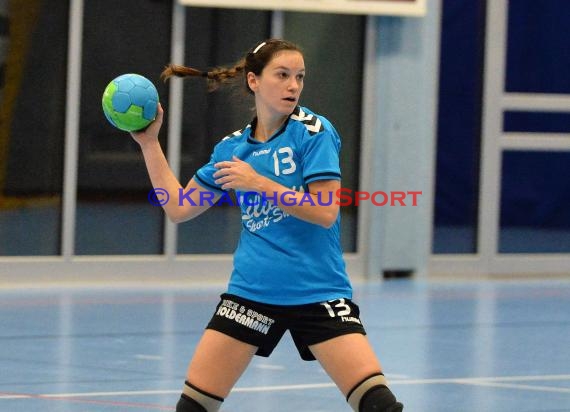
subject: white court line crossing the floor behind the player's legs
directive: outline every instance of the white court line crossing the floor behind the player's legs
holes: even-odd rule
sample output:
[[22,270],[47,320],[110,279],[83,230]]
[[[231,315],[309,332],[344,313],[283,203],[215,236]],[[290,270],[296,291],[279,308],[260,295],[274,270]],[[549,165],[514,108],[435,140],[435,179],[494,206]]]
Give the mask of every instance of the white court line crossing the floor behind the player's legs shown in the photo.
[[[570,388],[558,388],[552,386],[524,385],[509,382],[528,382],[528,381],[567,381],[570,375],[535,375],[535,376],[495,376],[495,377],[473,377],[473,378],[432,378],[432,379],[394,379],[390,381],[391,385],[437,385],[437,384],[459,384],[487,386],[505,389],[517,390],[533,390],[539,392],[556,392],[570,393]],[[294,390],[310,390],[310,389],[327,389],[334,388],[332,382],[326,383],[309,383],[296,385],[271,385],[271,386],[252,386],[252,387],[236,387],[232,392],[272,392],[272,391],[294,391]],[[151,396],[151,395],[171,395],[179,394],[180,389],[164,389],[164,390],[141,390],[141,391],[109,391],[109,392],[78,392],[78,393],[47,393],[47,394],[24,394],[24,393],[0,393],[0,401],[7,399],[25,399],[25,398],[42,398],[42,399],[78,399],[89,397],[106,397],[106,396]]]

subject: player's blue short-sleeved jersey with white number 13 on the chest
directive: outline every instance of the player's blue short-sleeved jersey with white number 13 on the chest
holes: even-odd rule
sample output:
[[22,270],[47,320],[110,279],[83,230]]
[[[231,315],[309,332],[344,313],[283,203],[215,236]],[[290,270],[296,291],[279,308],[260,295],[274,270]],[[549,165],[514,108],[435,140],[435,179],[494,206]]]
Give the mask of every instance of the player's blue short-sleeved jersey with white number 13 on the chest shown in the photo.
[[[232,156],[292,191],[308,192],[308,184],[317,180],[340,180],[340,137],[324,117],[298,106],[266,142],[253,139],[255,124],[254,119],[215,146],[210,162],[194,176],[201,186],[227,200],[212,175],[215,163]],[[280,305],[352,298],[340,245],[340,214],[326,229],[289,215],[274,205],[273,195],[237,193],[243,227],[228,293]],[[335,200],[323,194],[318,201]]]

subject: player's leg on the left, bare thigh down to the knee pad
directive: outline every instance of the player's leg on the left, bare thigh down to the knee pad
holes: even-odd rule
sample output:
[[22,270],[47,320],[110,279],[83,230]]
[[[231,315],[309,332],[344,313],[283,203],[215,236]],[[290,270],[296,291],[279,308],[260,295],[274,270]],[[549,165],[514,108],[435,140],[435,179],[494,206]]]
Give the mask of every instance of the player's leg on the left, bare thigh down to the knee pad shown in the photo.
[[176,411],[217,411],[256,350],[256,346],[207,329],[188,366]]

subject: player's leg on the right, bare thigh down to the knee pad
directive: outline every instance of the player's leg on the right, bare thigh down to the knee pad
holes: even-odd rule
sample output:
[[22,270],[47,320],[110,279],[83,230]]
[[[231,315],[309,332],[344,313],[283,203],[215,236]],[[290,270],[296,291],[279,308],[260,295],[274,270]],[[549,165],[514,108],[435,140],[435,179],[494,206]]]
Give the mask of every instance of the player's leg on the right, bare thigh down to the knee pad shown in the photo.
[[365,335],[350,333],[310,346],[355,412],[400,412]]

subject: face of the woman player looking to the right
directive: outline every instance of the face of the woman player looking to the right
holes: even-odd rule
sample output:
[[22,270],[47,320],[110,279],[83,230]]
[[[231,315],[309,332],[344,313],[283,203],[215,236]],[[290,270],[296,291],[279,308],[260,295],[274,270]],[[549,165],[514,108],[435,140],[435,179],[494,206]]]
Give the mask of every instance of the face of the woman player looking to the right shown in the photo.
[[249,85],[256,95],[256,105],[264,105],[276,114],[288,116],[299,102],[303,91],[305,62],[297,51],[277,53],[260,76],[249,73]]

